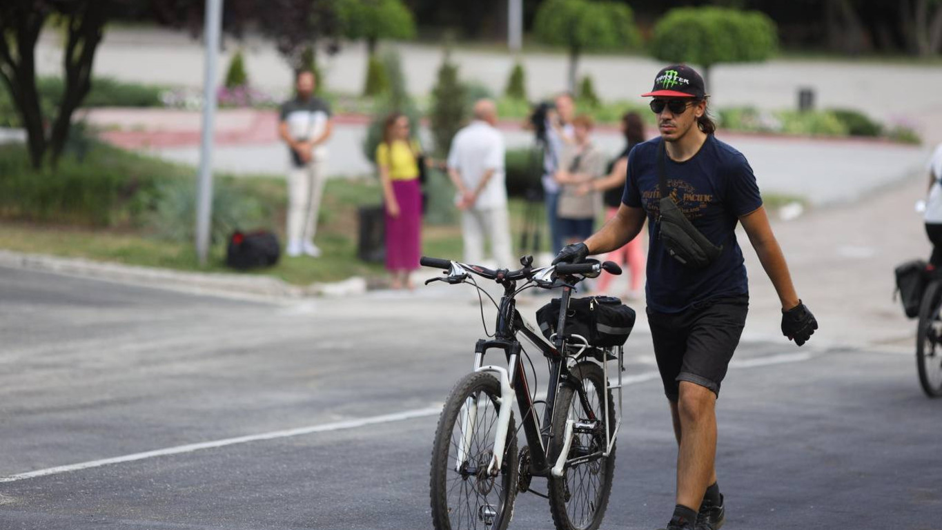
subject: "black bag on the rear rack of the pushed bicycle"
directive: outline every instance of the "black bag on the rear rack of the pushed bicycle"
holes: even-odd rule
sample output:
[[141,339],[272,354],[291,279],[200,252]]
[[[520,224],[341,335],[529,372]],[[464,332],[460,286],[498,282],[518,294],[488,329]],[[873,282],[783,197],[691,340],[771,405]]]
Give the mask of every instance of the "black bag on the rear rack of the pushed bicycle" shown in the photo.
[[[536,312],[536,319],[549,339],[560,323],[560,298],[554,298]],[[598,347],[624,345],[635,326],[635,310],[616,297],[570,298],[566,334],[582,335]]]

